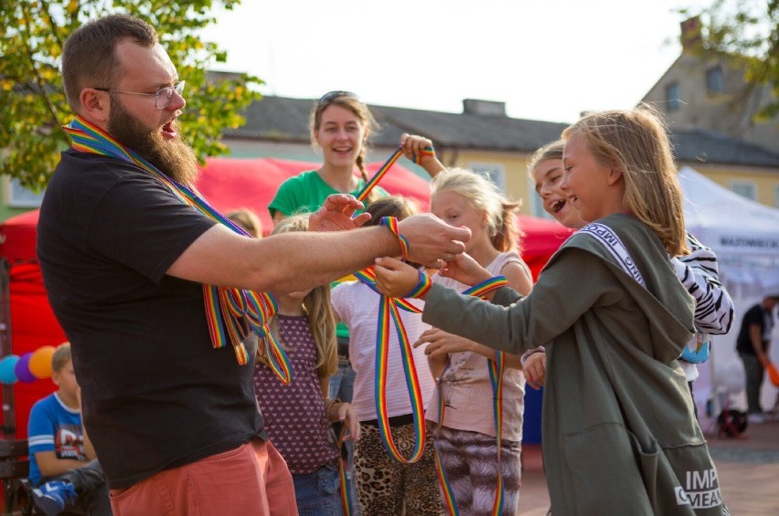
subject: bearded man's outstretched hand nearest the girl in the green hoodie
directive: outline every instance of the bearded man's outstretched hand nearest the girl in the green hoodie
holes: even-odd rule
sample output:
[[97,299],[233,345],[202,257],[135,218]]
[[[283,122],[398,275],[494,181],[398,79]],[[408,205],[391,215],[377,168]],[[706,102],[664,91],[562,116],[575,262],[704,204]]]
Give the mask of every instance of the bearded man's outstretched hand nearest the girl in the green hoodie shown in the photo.
[[449,226],[429,213],[405,218],[398,228],[409,242],[407,259],[433,269],[441,269],[446,261],[464,252],[464,242],[471,237],[467,227]]

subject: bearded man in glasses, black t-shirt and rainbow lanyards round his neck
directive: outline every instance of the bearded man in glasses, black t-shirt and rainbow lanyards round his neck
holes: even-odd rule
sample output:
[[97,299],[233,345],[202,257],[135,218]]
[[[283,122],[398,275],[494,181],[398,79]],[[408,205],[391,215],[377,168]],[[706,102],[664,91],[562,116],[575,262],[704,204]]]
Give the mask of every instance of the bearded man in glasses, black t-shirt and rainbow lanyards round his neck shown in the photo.
[[237,234],[192,190],[197,160],[176,121],[184,82],[152,26],[123,15],[81,26],[62,75],[77,116],[41,206],[38,258],[114,514],[296,513],[245,339],[274,307],[252,292],[341,278],[398,255],[400,236],[409,259],[441,266],[469,232],[433,216],[405,219],[398,235],[343,231],[369,216],[333,195],[313,232]]

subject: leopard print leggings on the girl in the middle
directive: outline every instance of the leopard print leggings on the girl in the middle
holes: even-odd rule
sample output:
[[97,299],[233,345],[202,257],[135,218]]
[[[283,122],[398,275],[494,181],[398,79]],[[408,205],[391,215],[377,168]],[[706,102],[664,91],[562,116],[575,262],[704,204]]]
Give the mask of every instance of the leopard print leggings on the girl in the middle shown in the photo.
[[[355,445],[357,499],[363,516],[443,515],[443,503],[435,472],[435,427],[427,424],[424,452],[414,464],[390,458],[377,426],[364,425]],[[413,425],[391,429],[395,446],[409,457],[414,446]]]

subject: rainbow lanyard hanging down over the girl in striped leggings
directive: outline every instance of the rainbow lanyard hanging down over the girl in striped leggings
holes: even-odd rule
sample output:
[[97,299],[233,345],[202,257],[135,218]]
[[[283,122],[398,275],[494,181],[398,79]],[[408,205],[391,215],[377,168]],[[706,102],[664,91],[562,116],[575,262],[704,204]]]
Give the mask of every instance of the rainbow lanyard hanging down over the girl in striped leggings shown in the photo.
[[[484,297],[486,293],[496,290],[508,284],[506,277],[496,276],[479,283],[474,287],[463,292],[464,296]],[[497,488],[495,491],[495,500],[492,506],[492,516],[499,516],[503,513],[503,500],[505,490],[503,487],[503,476],[500,474],[500,444],[503,434],[503,373],[506,369],[506,353],[496,352],[495,360],[487,360],[489,367],[489,380],[492,384],[493,392],[493,421],[495,423],[495,439],[497,443]],[[441,376],[438,378],[438,426],[437,433],[441,436],[441,426],[443,426],[443,377],[450,363],[447,361],[443,368]],[[441,448],[439,448],[438,439],[435,440],[435,466],[438,473],[438,483],[441,484],[443,491],[443,505],[452,516],[459,515],[460,510],[457,507],[457,500],[454,499],[454,491],[449,477],[446,475],[446,469],[443,468],[443,459],[441,458]]]

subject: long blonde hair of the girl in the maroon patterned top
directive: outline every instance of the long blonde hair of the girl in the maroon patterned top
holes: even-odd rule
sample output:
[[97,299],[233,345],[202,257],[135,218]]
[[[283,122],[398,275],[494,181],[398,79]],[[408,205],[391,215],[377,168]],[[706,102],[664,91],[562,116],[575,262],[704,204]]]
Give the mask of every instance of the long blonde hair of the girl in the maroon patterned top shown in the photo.
[[[271,234],[279,235],[292,231],[308,231],[308,214],[285,218],[273,227]],[[308,316],[311,334],[314,337],[316,345],[316,374],[318,374],[320,378],[325,378],[336,373],[336,370],[338,369],[336,316],[330,305],[330,285],[321,285],[311,290],[303,300],[303,310]],[[273,335],[277,337],[277,340],[281,342],[283,346],[284,342],[279,334],[275,317],[272,318],[270,327]],[[264,354],[258,353],[257,360],[261,363],[268,363],[268,359]]]

